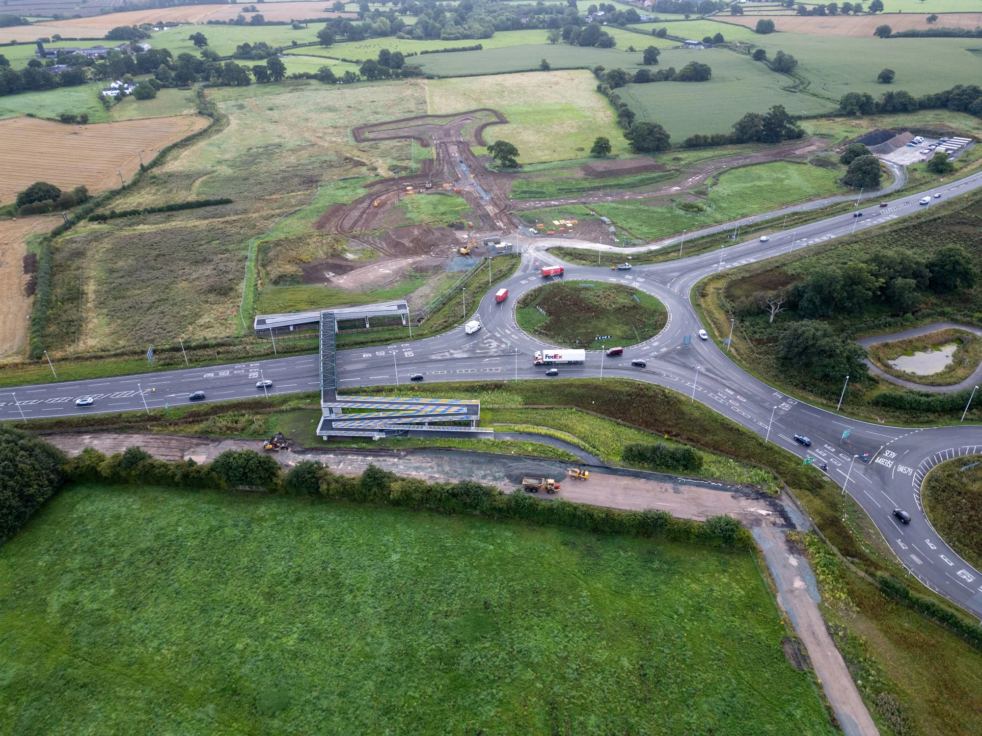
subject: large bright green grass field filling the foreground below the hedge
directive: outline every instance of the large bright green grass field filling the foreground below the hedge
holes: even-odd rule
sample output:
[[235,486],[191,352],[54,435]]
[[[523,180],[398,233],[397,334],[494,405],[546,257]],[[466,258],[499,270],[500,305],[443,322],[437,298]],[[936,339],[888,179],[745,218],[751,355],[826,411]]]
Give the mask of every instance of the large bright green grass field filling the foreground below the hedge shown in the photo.
[[833,733],[744,552],[82,486],[0,591],[15,732]]

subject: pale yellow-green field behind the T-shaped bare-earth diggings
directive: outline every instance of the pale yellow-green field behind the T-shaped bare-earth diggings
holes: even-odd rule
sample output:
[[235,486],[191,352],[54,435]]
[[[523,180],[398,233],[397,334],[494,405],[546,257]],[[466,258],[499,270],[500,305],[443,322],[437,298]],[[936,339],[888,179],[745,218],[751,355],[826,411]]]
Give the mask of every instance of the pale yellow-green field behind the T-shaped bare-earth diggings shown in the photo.
[[518,162],[524,164],[583,158],[598,135],[610,138],[615,154],[627,152],[624,131],[595,87],[596,79],[586,71],[530,72],[433,79],[426,97],[431,114],[489,106],[502,112],[509,124],[493,126],[485,136],[514,143],[521,154]]

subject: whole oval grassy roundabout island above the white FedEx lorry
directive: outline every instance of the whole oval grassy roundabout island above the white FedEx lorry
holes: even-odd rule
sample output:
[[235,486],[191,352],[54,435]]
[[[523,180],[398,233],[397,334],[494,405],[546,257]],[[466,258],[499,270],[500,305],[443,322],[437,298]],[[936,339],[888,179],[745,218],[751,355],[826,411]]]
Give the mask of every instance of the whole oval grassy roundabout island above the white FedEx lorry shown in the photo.
[[[630,345],[657,335],[668,310],[655,296],[620,284],[569,280],[521,295],[518,327],[564,347],[600,349]],[[599,340],[610,336],[605,340]]]

